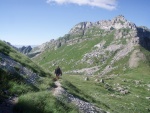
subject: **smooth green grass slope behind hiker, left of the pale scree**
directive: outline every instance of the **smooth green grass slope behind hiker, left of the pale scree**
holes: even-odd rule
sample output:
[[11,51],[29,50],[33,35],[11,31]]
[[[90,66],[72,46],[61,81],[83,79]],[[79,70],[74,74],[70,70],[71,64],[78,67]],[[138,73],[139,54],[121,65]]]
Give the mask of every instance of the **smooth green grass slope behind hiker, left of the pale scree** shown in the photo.
[[[66,71],[71,70],[75,62],[80,60],[85,53],[91,50],[91,48],[97,44],[98,40],[99,39],[88,40],[72,46],[65,45],[57,50],[46,51],[40,56],[41,60],[39,61],[39,64],[43,67],[50,67],[50,70],[54,69],[56,65],[63,66]],[[39,59],[39,57],[34,60],[36,61],[37,59]],[[52,66],[52,64],[55,63],[56,65]]]

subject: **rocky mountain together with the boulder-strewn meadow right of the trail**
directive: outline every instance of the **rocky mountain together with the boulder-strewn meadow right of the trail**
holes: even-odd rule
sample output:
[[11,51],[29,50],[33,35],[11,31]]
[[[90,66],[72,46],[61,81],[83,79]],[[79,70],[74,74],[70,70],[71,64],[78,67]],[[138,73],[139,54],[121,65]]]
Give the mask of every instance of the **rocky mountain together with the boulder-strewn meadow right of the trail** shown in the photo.
[[68,92],[105,111],[150,111],[150,30],[122,15],[81,22],[32,53],[47,71],[62,68],[61,83]]

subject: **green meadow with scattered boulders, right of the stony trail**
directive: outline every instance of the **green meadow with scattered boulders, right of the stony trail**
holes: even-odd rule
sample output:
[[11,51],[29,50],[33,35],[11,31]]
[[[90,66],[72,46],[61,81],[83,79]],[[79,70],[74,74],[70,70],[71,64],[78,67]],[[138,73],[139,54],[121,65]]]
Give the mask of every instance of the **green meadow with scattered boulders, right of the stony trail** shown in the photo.
[[[147,84],[150,84],[149,66],[144,63],[126,72],[120,72],[120,76],[102,77],[105,81],[97,83],[94,80],[99,77],[90,77],[89,81],[84,81],[85,76],[63,76],[63,86],[74,95],[87,101],[95,103],[98,107],[103,108],[111,113],[146,113],[150,108],[149,91]],[[101,78],[100,78],[101,79]],[[125,81],[124,81],[125,80]],[[141,81],[139,85],[134,80]],[[108,84],[106,88],[106,84]],[[126,95],[120,94],[114,90],[119,87],[127,88],[130,93]]]

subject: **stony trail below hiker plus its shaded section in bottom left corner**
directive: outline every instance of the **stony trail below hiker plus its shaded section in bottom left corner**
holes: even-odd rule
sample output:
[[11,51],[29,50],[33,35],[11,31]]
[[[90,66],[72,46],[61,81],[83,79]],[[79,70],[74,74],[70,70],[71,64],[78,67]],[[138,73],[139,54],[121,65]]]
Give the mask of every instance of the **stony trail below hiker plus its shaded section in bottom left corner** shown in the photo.
[[[55,88],[53,89],[53,95],[62,102],[72,103],[79,110],[79,113],[107,113],[102,109],[94,106],[92,103],[85,102],[72,94],[68,93],[62,88],[59,81],[55,81]],[[14,113],[13,106],[18,103],[18,97],[10,97],[4,102],[0,103],[0,113]]]

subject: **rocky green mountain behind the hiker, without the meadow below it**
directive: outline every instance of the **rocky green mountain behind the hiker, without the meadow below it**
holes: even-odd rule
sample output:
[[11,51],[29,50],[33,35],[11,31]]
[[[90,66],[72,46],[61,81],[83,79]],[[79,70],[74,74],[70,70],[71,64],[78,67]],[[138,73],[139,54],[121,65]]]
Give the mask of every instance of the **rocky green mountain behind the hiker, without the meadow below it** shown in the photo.
[[[61,65],[67,73],[87,75],[90,70],[91,75],[103,75],[118,68],[115,63],[125,57],[129,58],[132,52],[142,56],[139,47],[149,51],[149,43],[149,29],[137,27],[120,15],[108,21],[81,22],[69,34],[33,48],[32,52],[41,53],[36,54],[33,60],[48,70]],[[144,60],[144,55],[142,59],[137,59]],[[135,66],[133,63],[126,66],[129,65]]]

